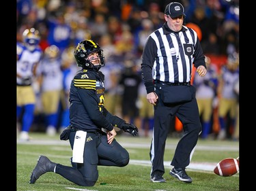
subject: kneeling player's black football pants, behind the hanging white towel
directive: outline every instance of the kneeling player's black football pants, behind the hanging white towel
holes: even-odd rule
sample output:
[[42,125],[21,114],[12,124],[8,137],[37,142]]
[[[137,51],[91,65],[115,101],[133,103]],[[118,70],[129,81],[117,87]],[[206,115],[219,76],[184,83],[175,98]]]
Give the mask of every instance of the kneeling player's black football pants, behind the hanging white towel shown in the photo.
[[[75,131],[70,133],[70,145],[73,149]],[[94,186],[98,180],[98,165],[124,167],[129,162],[129,154],[122,145],[114,139],[111,145],[107,143],[106,134],[87,133],[83,163],[74,167],[57,164],[55,173],[74,182],[79,186]]]

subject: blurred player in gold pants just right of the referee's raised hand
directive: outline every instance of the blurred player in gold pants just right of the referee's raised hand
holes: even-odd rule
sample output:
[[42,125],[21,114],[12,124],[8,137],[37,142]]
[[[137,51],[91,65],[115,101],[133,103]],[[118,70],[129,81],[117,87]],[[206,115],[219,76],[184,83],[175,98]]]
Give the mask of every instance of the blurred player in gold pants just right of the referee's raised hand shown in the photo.
[[205,139],[212,131],[212,110],[213,100],[216,97],[216,87],[218,85],[217,68],[211,64],[211,59],[205,56],[205,64],[208,72],[204,77],[195,73],[194,86],[196,87],[196,98],[201,117],[202,133],[201,138]]

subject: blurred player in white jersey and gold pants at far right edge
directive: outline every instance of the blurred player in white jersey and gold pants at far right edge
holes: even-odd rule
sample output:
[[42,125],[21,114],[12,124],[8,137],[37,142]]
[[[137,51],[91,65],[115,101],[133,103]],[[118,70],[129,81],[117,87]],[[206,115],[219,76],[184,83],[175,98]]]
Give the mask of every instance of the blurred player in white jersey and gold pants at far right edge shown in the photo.
[[221,126],[217,139],[226,139],[233,134],[236,122],[237,95],[234,86],[239,80],[239,56],[237,52],[229,54],[227,64],[221,69],[218,79],[218,120]]

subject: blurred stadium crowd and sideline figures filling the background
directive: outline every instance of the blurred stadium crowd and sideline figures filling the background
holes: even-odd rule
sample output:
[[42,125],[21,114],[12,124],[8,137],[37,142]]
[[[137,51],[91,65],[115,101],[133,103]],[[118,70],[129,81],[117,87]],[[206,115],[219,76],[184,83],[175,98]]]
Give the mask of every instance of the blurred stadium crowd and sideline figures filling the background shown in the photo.
[[[38,78],[33,82],[37,99],[30,131],[45,131],[51,136],[68,126],[68,91],[72,80],[70,76],[74,76],[79,69],[73,58],[73,51],[79,41],[94,39],[104,50],[106,59],[106,65],[101,69],[107,78],[106,108],[112,114],[134,122],[140,127],[140,136],[150,136],[154,114],[152,105],[145,101],[146,92],[141,84],[141,54],[148,35],[164,23],[165,6],[170,2],[17,0],[17,42],[23,41],[25,29],[33,27],[40,33],[39,46],[44,52]],[[208,77],[205,76],[202,82],[197,81],[196,74],[194,78],[197,99],[201,103],[201,138],[237,141],[239,0],[177,2],[185,6],[186,24],[193,24],[195,27],[209,67]],[[44,71],[43,63],[49,54],[57,62],[52,65],[53,69],[61,73],[61,80],[52,79],[47,85],[61,90],[53,124],[47,120],[46,104],[42,99],[46,90],[46,86],[42,86],[46,77],[42,75],[47,72]],[[204,101],[210,105],[207,111],[200,106],[205,105]],[[17,119],[18,131],[19,123],[20,118]],[[180,128],[172,129],[170,135],[180,135],[181,131]]]

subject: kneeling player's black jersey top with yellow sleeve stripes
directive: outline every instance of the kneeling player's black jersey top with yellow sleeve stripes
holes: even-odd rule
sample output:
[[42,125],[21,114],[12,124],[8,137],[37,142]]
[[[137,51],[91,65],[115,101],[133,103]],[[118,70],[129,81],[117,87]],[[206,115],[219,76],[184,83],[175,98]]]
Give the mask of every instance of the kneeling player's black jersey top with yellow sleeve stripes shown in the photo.
[[70,124],[87,132],[113,126],[122,128],[124,120],[104,107],[104,74],[95,69],[81,69],[70,85]]

